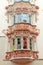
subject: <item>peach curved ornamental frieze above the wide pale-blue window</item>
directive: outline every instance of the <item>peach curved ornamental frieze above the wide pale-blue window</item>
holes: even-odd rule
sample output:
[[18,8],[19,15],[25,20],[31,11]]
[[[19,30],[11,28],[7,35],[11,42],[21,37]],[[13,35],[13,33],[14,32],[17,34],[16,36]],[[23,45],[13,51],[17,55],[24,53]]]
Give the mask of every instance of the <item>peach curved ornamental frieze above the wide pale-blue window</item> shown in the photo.
[[[7,11],[12,12],[29,12],[29,11],[37,11],[39,9],[38,6],[32,5],[30,3],[15,3],[13,5],[6,6]],[[22,10],[21,10],[22,9]]]

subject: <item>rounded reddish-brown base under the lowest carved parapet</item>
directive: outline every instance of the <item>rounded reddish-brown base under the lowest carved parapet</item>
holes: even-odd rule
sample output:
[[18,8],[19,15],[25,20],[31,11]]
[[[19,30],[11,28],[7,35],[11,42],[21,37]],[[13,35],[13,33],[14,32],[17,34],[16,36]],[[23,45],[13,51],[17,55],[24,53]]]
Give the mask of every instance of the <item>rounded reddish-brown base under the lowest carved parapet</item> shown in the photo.
[[16,58],[16,59],[11,58],[10,60],[4,59],[4,61],[11,61],[11,62],[14,62],[14,63],[20,63],[20,64],[25,63],[26,64],[26,63],[29,63],[29,62],[33,62],[34,59],[28,58],[28,57],[25,57],[25,58],[20,57],[20,58]]

